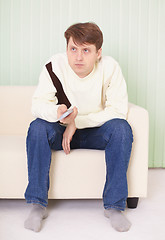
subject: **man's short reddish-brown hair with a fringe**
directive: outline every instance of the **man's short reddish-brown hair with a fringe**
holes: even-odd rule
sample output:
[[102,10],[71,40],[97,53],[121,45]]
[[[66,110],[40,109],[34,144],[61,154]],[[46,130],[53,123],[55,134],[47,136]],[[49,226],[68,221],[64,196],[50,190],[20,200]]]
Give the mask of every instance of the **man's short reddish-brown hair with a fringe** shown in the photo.
[[71,25],[64,33],[68,45],[70,37],[75,44],[94,44],[98,51],[103,44],[103,34],[100,28],[92,22]]

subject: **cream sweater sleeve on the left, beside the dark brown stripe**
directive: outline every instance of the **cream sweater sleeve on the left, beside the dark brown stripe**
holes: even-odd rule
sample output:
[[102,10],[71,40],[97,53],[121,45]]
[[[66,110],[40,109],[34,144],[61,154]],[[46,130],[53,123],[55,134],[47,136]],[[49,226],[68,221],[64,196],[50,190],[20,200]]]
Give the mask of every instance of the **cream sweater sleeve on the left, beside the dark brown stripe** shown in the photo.
[[46,67],[39,77],[39,83],[32,98],[32,114],[48,122],[57,121],[57,98],[56,88],[49,77]]

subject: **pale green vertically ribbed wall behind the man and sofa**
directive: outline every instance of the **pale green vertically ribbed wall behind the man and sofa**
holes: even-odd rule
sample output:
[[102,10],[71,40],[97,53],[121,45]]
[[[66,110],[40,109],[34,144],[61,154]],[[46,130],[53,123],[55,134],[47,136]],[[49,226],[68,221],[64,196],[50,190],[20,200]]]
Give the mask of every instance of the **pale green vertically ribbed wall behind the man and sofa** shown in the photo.
[[0,0],[0,85],[36,85],[45,61],[65,51],[66,28],[84,21],[101,27],[129,101],[149,111],[149,167],[165,167],[164,0]]

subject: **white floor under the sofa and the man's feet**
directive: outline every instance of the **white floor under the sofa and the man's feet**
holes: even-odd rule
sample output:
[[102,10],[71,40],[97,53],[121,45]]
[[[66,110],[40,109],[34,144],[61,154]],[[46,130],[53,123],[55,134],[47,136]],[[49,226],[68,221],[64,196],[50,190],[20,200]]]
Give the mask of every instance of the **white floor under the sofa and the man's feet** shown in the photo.
[[148,197],[125,211],[132,222],[129,232],[112,229],[102,200],[51,200],[39,233],[24,229],[29,210],[24,200],[0,200],[1,240],[164,240],[165,169],[149,170]]

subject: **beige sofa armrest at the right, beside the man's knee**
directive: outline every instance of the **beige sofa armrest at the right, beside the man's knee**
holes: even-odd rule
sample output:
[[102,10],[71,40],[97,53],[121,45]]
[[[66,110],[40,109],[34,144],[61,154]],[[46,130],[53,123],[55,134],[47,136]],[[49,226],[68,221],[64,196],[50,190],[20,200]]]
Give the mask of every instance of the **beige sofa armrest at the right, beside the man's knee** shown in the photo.
[[[129,103],[127,121],[132,127],[134,142],[132,146],[131,159],[128,168],[128,191],[130,197],[147,196],[148,179],[148,137],[149,116],[147,110]],[[131,169],[131,170],[130,170]],[[144,189],[143,194],[140,194]],[[136,189],[136,192],[135,192]]]

